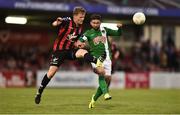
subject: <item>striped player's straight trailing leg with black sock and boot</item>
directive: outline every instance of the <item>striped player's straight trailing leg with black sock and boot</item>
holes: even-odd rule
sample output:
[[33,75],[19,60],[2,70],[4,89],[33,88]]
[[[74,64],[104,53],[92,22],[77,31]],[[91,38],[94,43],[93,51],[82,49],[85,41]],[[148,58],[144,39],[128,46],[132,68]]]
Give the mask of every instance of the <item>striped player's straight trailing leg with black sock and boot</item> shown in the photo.
[[43,90],[47,86],[47,84],[50,82],[51,78],[54,76],[56,71],[58,70],[57,66],[50,66],[48,73],[44,76],[42,79],[41,85],[37,91],[37,94],[35,96],[35,103],[39,104],[41,102],[41,95],[43,93]]

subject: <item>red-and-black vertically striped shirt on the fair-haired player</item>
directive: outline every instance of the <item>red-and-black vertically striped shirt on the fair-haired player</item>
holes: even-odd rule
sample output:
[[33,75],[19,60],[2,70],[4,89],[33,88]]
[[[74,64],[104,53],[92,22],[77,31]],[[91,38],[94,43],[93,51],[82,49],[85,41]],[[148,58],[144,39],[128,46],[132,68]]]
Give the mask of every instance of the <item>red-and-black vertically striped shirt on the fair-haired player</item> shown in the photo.
[[63,18],[58,26],[58,37],[56,38],[53,50],[69,50],[74,48],[74,42],[82,35],[82,25],[76,27],[74,21],[70,18]]

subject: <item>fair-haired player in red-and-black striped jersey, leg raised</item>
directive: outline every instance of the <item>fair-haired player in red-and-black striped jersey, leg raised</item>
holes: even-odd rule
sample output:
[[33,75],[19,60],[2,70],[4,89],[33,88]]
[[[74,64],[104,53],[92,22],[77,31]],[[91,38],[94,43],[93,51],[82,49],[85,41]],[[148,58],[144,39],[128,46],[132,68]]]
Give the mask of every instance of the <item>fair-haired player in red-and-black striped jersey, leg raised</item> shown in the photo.
[[52,23],[53,26],[58,27],[58,37],[54,42],[49,70],[43,77],[35,97],[36,104],[40,103],[44,88],[55,75],[59,66],[64,62],[64,60],[84,58],[84,60],[87,62],[93,62],[99,67],[102,66],[102,62],[104,61],[105,56],[101,56],[97,59],[88,53],[87,50],[75,49],[76,41],[82,34],[82,24],[85,18],[85,14],[86,10],[84,8],[75,7],[73,10],[72,19],[58,17]]

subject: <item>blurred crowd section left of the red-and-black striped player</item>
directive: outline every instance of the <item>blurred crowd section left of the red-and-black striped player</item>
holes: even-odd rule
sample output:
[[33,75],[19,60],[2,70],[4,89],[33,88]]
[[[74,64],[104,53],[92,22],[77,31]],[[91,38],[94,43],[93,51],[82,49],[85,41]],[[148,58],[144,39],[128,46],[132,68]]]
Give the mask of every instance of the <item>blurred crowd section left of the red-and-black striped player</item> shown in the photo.
[[0,45],[0,70],[33,70],[45,68],[48,51],[38,46]]

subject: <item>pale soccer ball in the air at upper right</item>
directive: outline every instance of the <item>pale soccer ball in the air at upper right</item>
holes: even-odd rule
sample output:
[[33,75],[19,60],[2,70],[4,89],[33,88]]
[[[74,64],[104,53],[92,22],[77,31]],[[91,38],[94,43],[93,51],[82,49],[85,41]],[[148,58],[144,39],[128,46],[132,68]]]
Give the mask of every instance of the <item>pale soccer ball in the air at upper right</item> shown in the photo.
[[144,15],[144,13],[137,12],[133,15],[133,22],[136,25],[144,24],[145,21],[146,21],[146,16]]

